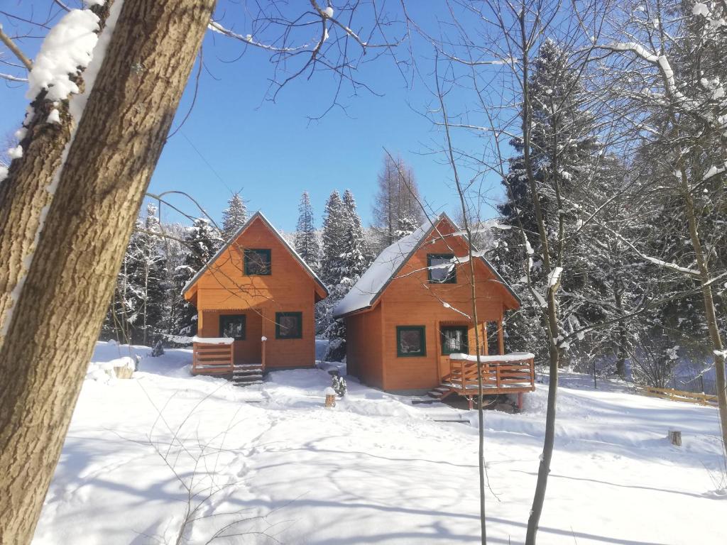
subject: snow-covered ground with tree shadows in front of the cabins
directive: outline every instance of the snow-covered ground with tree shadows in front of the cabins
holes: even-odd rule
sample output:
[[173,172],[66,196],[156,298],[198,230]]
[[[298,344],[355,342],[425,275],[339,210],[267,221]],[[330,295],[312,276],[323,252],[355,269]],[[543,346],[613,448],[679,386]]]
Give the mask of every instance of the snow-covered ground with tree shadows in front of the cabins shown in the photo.
[[[92,366],[35,544],[175,543],[188,506],[180,543],[478,542],[474,411],[353,380],[326,409],[325,371],[238,389],[190,376],[188,350],[134,350],[144,358],[131,380]],[[93,359],[128,355],[99,343]],[[725,543],[716,409],[601,386],[563,376],[539,543]],[[526,413],[486,413],[489,543],[523,542],[545,395],[526,395]],[[668,429],[682,430],[682,448]]]

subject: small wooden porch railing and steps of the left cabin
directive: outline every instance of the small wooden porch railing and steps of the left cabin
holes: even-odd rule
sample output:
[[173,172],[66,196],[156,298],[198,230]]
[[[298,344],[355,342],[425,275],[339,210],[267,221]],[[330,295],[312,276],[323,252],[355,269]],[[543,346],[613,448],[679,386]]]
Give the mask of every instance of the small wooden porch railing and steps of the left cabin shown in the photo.
[[265,342],[260,339],[260,363],[235,363],[235,339],[195,337],[192,348],[192,374],[227,376],[236,385],[262,382],[265,373]]

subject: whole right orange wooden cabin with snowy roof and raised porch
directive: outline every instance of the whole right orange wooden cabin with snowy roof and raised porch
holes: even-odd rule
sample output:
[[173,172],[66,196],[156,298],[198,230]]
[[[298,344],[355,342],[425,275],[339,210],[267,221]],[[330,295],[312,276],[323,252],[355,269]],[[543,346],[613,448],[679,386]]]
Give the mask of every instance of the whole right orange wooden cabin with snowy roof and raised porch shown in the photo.
[[[346,323],[348,374],[394,392],[457,392],[471,403],[477,363],[467,355],[477,352],[467,253],[465,236],[446,214],[382,251],[334,308]],[[475,257],[474,265],[480,353],[489,355],[483,388],[529,392],[533,355],[505,355],[502,330],[505,311],[520,307],[520,299],[487,259]]]

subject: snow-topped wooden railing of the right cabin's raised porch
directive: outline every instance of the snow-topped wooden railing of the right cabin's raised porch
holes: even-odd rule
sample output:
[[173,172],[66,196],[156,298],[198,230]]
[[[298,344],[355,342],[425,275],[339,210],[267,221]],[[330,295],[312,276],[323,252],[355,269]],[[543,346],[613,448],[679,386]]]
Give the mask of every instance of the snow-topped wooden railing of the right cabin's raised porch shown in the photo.
[[[482,389],[488,394],[502,392],[531,392],[535,389],[535,364],[530,354],[482,356]],[[475,361],[473,361],[475,359]],[[477,361],[451,355],[449,358],[448,384],[457,392],[475,394],[478,390]]]

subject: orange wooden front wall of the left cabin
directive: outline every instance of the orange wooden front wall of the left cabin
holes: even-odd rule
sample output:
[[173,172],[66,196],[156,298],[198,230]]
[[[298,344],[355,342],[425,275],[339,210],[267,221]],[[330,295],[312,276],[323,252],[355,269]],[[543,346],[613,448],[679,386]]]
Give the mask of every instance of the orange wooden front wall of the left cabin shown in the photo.
[[[265,336],[269,368],[312,367],[316,363],[316,282],[262,219],[251,221],[196,283],[193,302],[199,312],[199,331],[202,336],[219,336],[220,314],[244,313],[248,331],[245,341],[235,343],[236,361],[260,362],[260,338]],[[245,248],[270,249],[270,275],[244,275]],[[275,338],[276,312],[302,312],[302,339]]]

